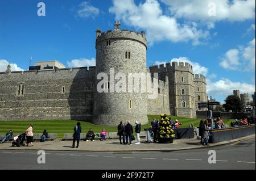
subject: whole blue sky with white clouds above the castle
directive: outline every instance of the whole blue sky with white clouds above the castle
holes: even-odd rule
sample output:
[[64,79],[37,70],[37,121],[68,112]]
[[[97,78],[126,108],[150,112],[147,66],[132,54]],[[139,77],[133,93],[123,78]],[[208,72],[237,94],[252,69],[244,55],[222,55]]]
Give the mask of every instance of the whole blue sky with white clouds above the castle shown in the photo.
[[[46,16],[38,16],[38,3]],[[209,6],[214,2],[215,6]],[[215,7],[215,9],[214,9]],[[210,12],[215,14],[209,15]],[[188,61],[207,77],[208,95],[224,101],[233,89],[255,91],[255,2],[171,0],[2,0],[0,71],[26,70],[35,61],[67,67],[95,64],[98,27],[145,31],[147,66]]]

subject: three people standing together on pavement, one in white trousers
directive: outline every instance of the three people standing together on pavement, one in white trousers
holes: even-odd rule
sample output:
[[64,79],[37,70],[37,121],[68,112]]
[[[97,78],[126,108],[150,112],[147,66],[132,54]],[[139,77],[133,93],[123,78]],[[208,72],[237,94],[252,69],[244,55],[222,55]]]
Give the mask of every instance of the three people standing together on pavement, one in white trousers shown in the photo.
[[[139,136],[139,133],[141,133],[141,123],[135,121],[135,124],[135,133],[137,137],[137,142],[135,144],[138,145],[141,144],[141,138]],[[129,144],[131,145],[131,141],[135,140],[133,139],[133,125],[131,125],[130,121],[127,121],[127,124],[125,125],[123,125],[123,122],[121,121],[117,127],[117,130],[117,135],[119,136],[120,144],[127,145],[129,139]]]

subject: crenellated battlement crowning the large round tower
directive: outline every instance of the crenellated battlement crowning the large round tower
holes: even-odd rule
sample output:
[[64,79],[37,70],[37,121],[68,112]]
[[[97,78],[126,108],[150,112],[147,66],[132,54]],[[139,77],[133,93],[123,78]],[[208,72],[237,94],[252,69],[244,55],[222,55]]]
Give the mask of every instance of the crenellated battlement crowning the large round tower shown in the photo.
[[120,24],[119,26],[117,23],[115,23],[115,29],[114,31],[109,30],[106,32],[101,32],[100,28],[96,31],[96,45],[98,43],[101,43],[102,41],[109,40],[109,39],[131,39],[135,41],[139,41],[147,48],[147,39],[145,33],[142,32],[136,32],[136,31],[128,31],[126,29],[120,30]]

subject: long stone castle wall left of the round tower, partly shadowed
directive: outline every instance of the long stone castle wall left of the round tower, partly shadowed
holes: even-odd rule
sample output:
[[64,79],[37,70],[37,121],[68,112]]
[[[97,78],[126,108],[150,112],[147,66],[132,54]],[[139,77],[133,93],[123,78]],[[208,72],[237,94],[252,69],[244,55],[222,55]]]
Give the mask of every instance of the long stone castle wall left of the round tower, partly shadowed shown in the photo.
[[89,121],[94,75],[95,68],[0,73],[0,120]]

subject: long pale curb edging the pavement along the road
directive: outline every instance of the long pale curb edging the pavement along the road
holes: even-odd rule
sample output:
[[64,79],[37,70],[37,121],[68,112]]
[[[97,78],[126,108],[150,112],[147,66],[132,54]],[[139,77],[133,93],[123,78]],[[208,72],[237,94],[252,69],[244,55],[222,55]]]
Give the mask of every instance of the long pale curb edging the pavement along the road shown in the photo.
[[[240,142],[240,141],[244,141],[244,140],[249,140],[251,138],[255,138],[255,134],[252,134],[250,136],[246,136],[246,137],[241,137],[241,138],[237,138],[235,140],[229,140],[229,141],[223,141],[223,142],[218,142],[217,144],[210,144],[209,146],[189,146],[189,147],[180,147],[180,148],[175,148],[175,149],[134,149],[134,150],[65,150],[65,149],[43,149],[45,151],[77,151],[77,152],[114,152],[114,153],[118,153],[118,152],[171,152],[171,151],[181,151],[181,150],[193,150],[193,149],[204,149],[204,148],[214,148],[217,146],[223,146],[223,145],[230,145],[233,144],[234,142]],[[22,147],[20,147],[21,149],[12,149],[12,148],[7,148],[7,149],[1,149],[1,151],[36,151],[39,149],[22,149]],[[26,147],[27,148],[27,147]]]

